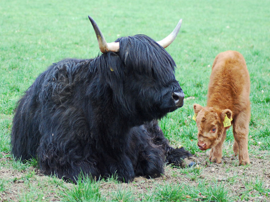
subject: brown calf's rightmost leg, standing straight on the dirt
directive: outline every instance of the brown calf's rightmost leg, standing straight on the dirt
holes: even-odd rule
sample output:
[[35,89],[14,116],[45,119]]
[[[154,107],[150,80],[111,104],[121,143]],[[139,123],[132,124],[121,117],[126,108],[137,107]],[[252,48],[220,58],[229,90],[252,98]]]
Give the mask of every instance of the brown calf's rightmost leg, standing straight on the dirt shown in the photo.
[[[249,132],[249,117],[250,114],[242,111],[239,113],[238,116],[234,118],[234,126],[233,126],[233,133],[234,133],[234,154],[239,154],[239,164],[245,165],[249,164],[249,156],[248,156],[248,149],[247,149],[247,137]],[[237,144],[237,145],[236,145]]]

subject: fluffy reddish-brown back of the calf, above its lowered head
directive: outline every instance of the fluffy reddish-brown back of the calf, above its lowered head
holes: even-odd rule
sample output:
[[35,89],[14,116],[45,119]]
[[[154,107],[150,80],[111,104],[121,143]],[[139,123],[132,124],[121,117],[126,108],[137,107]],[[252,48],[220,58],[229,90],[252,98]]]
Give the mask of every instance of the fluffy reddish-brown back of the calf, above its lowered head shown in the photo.
[[237,113],[249,106],[249,93],[249,73],[243,55],[237,51],[218,54],[212,66],[207,106]]

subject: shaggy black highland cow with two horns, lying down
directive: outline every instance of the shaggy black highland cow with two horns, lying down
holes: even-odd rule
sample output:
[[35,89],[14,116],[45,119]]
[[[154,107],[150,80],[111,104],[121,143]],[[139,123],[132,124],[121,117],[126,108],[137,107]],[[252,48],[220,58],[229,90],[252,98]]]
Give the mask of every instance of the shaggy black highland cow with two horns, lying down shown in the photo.
[[175,62],[163,48],[175,39],[181,20],[159,42],[135,35],[106,43],[89,19],[103,54],[65,59],[36,78],[15,111],[14,157],[37,157],[45,174],[71,182],[80,173],[93,179],[116,174],[129,182],[160,176],[166,162],[192,165],[185,161],[191,154],[170,147],[155,121],[183,105]]

